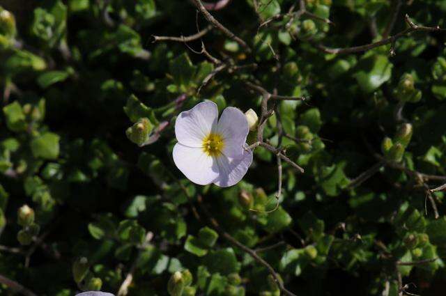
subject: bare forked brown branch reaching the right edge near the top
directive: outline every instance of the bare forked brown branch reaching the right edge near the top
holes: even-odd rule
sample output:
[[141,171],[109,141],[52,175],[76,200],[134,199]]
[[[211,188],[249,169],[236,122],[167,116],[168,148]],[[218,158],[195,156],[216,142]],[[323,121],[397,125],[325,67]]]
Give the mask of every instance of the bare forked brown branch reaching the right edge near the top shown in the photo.
[[406,15],[406,23],[409,25],[408,29],[401,31],[399,33],[397,33],[394,36],[390,36],[388,38],[385,38],[383,40],[377,41],[377,42],[373,42],[373,43],[369,43],[367,45],[360,45],[360,46],[355,46],[355,47],[346,47],[346,48],[332,48],[332,47],[326,47],[325,45],[321,45],[318,44],[312,40],[307,40],[308,42],[310,42],[314,47],[316,47],[317,49],[321,50],[321,52],[325,52],[325,54],[353,54],[356,52],[365,52],[369,49],[373,49],[375,47],[380,47],[383,45],[387,45],[390,43],[394,43],[396,42],[399,38],[406,36],[410,33],[413,33],[415,31],[445,31],[445,29],[440,29],[440,27],[436,26],[436,27],[431,27],[431,26],[418,26],[416,24],[414,24],[408,15]]

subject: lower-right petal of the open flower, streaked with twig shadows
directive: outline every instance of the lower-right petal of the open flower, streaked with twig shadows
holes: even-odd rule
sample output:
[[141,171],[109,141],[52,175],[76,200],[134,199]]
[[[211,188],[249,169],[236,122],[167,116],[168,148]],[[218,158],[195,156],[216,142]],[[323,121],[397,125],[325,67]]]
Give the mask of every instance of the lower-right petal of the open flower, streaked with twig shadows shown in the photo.
[[237,184],[245,176],[249,166],[252,163],[252,151],[243,150],[243,157],[235,159],[222,155],[215,158],[220,176],[214,181],[214,184],[220,187],[229,187]]

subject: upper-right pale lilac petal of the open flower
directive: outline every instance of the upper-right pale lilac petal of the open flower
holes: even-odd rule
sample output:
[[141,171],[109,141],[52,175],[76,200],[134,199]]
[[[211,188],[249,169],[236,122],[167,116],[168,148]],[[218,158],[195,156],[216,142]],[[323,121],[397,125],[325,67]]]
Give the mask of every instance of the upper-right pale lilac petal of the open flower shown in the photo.
[[243,157],[243,146],[249,132],[245,114],[237,108],[227,107],[218,120],[215,132],[224,139],[223,154],[230,158]]

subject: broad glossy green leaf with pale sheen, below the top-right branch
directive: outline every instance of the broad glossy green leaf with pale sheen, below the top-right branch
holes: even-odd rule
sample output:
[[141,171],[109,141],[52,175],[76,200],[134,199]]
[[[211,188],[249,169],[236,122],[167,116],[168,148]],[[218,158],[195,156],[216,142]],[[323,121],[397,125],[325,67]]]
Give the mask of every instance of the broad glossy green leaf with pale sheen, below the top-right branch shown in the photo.
[[392,68],[393,65],[387,56],[368,56],[358,63],[354,76],[362,91],[371,93],[390,79]]

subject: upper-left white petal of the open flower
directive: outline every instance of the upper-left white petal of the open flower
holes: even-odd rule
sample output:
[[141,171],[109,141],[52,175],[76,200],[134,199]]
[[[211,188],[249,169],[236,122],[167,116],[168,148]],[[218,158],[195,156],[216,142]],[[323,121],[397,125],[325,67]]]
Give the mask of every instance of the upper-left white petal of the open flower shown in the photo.
[[217,104],[210,101],[181,112],[175,122],[176,139],[185,146],[203,146],[203,139],[217,125],[217,118]]

